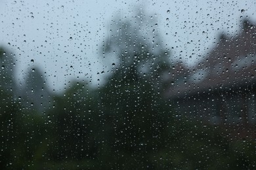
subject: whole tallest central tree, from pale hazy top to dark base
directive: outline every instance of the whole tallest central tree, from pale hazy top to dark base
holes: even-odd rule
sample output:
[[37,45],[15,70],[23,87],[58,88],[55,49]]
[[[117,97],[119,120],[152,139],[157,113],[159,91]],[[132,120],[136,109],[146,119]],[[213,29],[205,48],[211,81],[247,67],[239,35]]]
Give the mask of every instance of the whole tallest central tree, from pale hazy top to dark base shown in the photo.
[[100,90],[113,155],[112,161],[102,158],[108,168],[152,168],[150,156],[165,147],[171,107],[160,94],[161,75],[171,62],[156,29],[156,20],[140,12],[131,20],[114,20],[110,39],[104,42],[104,55],[119,61]]

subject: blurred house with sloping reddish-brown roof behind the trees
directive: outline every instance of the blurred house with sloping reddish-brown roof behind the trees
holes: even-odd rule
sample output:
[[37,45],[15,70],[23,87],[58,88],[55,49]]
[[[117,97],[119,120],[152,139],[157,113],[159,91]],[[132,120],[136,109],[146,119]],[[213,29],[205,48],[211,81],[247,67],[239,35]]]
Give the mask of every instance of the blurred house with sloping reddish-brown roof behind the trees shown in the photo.
[[248,20],[236,36],[220,35],[184,82],[171,84],[165,93],[177,112],[217,125],[256,125],[255,36],[256,26]]

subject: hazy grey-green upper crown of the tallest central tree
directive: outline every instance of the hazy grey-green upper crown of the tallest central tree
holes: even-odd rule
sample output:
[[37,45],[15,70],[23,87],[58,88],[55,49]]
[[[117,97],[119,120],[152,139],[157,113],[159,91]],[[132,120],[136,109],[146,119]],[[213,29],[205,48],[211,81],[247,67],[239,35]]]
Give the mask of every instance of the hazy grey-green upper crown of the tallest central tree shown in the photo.
[[116,18],[108,37],[102,50],[104,58],[114,58],[112,65],[117,66],[110,78],[114,77],[112,84],[119,80],[137,82],[143,76],[154,88],[166,88],[171,79],[171,52],[161,41],[156,18],[141,9],[131,19]]

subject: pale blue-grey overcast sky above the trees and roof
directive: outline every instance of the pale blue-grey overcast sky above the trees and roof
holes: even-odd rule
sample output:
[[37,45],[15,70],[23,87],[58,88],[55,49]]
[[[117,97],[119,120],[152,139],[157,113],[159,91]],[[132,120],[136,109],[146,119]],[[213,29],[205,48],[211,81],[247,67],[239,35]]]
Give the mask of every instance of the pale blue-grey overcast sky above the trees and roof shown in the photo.
[[[236,36],[240,21],[256,22],[251,1],[0,1],[0,43],[16,54],[17,80],[28,68],[46,72],[49,89],[60,92],[68,81],[98,84],[112,69],[102,66],[102,44],[110,21],[134,15],[137,7],[157,18],[164,44],[188,65],[200,61],[219,33]],[[32,63],[33,59],[33,63]],[[89,63],[91,65],[89,65]],[[108,62],[111,64],[111,62]],[[109,67],[108,67],[109,66]]]

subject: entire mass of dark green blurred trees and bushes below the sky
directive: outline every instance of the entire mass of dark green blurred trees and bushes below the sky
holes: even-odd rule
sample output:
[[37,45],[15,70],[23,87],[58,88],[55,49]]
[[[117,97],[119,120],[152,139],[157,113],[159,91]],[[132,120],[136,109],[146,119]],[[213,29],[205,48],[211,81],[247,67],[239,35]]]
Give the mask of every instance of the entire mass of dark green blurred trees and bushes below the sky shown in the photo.
[[37,69],[20,88],[1,49],[0,169],[255,169],[254,140],[175,114],[162,93],[176,63],[129,23],[112,26],[104,55],[121,58],[101,88],[72,82],[56,95]]

